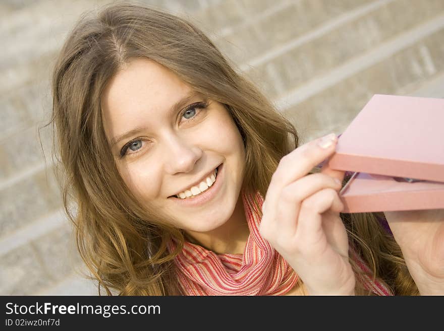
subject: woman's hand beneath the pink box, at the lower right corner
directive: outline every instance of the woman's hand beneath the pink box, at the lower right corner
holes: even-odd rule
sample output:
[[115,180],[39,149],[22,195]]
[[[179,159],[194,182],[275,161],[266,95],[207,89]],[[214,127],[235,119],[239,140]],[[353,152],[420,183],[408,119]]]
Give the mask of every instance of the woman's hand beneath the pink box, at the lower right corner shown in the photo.
[[384,212],[422,295],[444,295],[444,209]]

